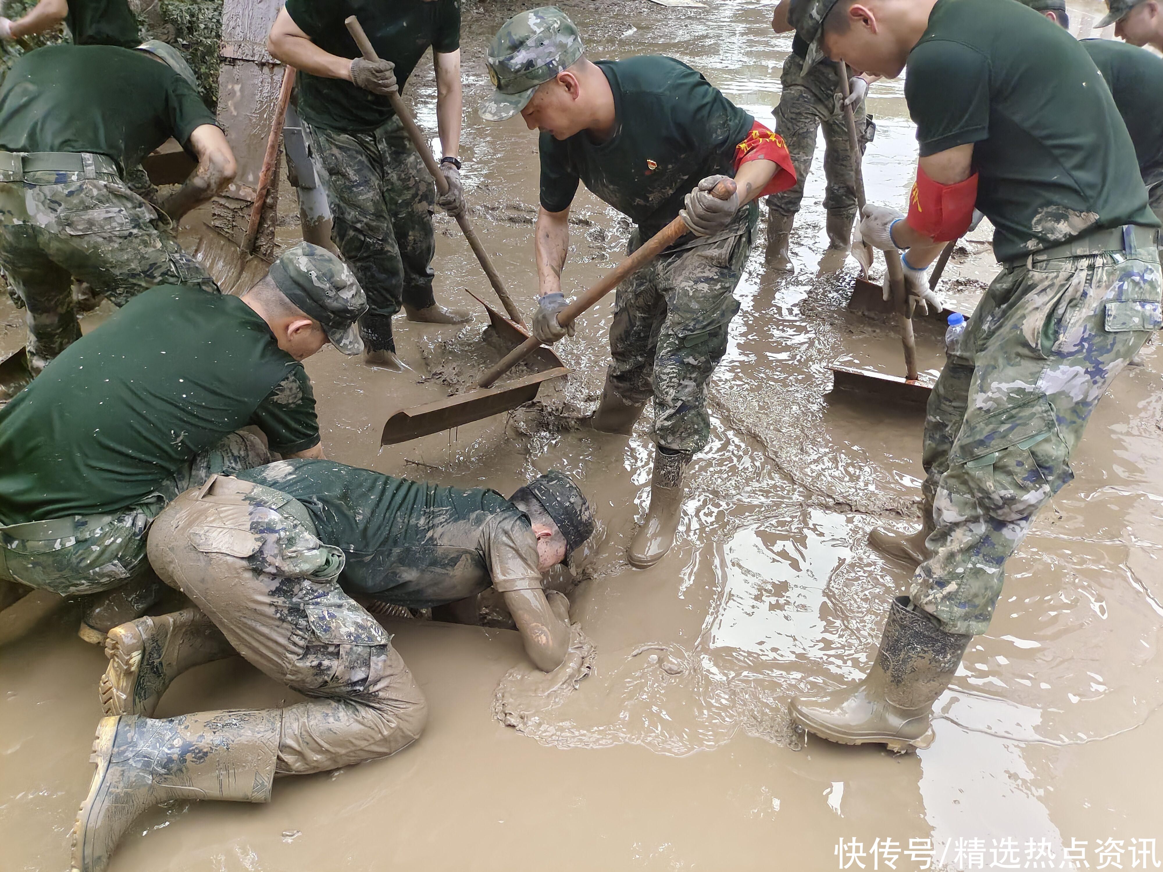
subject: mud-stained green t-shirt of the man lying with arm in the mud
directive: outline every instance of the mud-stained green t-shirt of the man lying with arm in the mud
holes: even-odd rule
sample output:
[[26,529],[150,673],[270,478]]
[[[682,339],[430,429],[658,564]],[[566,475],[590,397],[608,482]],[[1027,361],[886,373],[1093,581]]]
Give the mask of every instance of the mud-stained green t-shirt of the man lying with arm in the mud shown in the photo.
[[495,491],[409,481],[333,460],[281,460],[238,478],[306,506],[319,538],[347,557],[345,591],[431,608],[491,585],[541,587],[529,519]]

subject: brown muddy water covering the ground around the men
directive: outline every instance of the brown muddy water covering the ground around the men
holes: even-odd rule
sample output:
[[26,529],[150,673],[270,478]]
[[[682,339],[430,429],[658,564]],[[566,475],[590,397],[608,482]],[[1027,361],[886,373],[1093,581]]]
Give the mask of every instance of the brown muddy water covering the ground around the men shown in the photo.
[[[665,51],[770,120],[790,45],[770,37],[770,6],[570,9],[592,55]],[[1084,27],[1098,10],[1072,9]],[[508,12],[466,9],[470,108],[487,88],[481,35]],[[430,78],[409,90],[434,129]],[[900,202],[913,141],[899,83],[873,87],[870,107],[879,129],[869,195]],[[475,220],[529,308],[536,141],[519,121],[490,126],[470,110],[465,143]],[[1146,367],[1115,383],[1079,448],[1076,481],[1011,560],[990,632],[973,641],[939,705],[933,748],[894,758],[818,741],[800,746],[789,729],[790,694],[837,686],[868,666],[907,572],[872,552],[865,535],[878,523],[915,522],[921,476],[916,412],[828,393],[827,366],[837,358],[889,371],[901,364],[886,323],[842,310],[852,265],[839,277],[816,274],[822,188],[813,174],[792,278],[764,273],[762,245],[752,256],[712,381],[712,444],[692,467],[680,542],[651,570],[623,558],[645,508],[645,422],[629,439],[543,427],[597,396],[608,305],[559,345],[575,373],[564,387],[543,388],[549,415],[518,413],[384,450],[378,435],[394,408],[455,389],[444,377],[483,316],[463,329],[398,322],[412,373],[369,371],[333,350],[312,358],[331,457],[506,492],[550,467],[583,481],[609,530],[573,594],[572,620],[597,646],[594,671],[520,735],[491,714],[498,684],[523,662],[514,634],[398,622],[395,643],[431,703],[419,743],[390,760],[280,780],[269,806],[151,812],[112,869],[825,870],[837,867],[840,838],[865,850],[877,838],[898,846],[930,839],[948,869],[975,867],[972,839],[984,851],[976,867],[1007,862],[1006,838],[1021,867],[1034,856],[1028,839],[1046,839],[1059,867],[1072,838],[1089,842],[1097,867],[1097,846],[1111,838],[1121,839],[1130,869],[1132,839],[1163,836],[1163,364],[1154,348]],[[568,291],[615,262],[626,238],[618,216],[586,193],[575,216]],[[465,305],[462,287],[487,294],[456,226],[438,217],[437,227],[438,298]],[[985,233],[949,267],[966,310],[975,283],[992,271]],[[919,342],[922,369],[939,369],[937,333],[922,329]],[[76,612],[62,613],[0,651],[0,869],[66,864],[105,665],[72,635],[76,622]],[[235,659],[185,676],[158,714],[293,699]],[[862,862],[873,867],[871,856]],[[922,863],[901,856],[896,867]]]

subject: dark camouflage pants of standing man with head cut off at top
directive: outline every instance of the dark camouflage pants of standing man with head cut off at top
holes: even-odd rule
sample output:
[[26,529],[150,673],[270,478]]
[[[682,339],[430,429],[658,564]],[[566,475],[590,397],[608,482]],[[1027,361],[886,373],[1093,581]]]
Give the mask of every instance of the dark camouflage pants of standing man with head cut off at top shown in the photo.
[[392,315],[433,296],[436,187],[400,120],[365,134],[311,128],[334,224],[331,238],[368,295],[359,328],[373,350],[395,350]]

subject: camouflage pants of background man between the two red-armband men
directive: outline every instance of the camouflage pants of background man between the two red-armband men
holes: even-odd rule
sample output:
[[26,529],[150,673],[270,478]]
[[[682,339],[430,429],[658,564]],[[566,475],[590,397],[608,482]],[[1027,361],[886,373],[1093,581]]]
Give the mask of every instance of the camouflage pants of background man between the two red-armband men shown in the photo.
[[[836,67],[825,62],[816,64],[807,76],[801,76],[802,58],[789,55],[780,76],[783,93],[776,107],[776,131],[784,137],[792,163],[795,184],[766,198],[768,208],[779,215],[794,215],[804,199],[804,185],[812,171],[815,155],[816,128],[823,128],[823,174],[827,188],[823,208],[856,215],[856,181],[852,176],[852,146],[844,121],[843,107],[837,94],[840,87]],[[872,138],[871,120],[865,117],[864,103],[852,107],[857,129],[862,130],[861,148]]]

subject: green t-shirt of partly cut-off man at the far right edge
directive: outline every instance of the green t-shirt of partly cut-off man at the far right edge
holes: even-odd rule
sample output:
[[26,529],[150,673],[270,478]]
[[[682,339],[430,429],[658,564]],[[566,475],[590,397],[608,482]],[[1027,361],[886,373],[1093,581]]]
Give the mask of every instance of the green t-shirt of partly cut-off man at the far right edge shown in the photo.
[[1139,172],[1146,180],[1163,170],[1163,58],[1114,40],[1083,40],[1127,122]]

